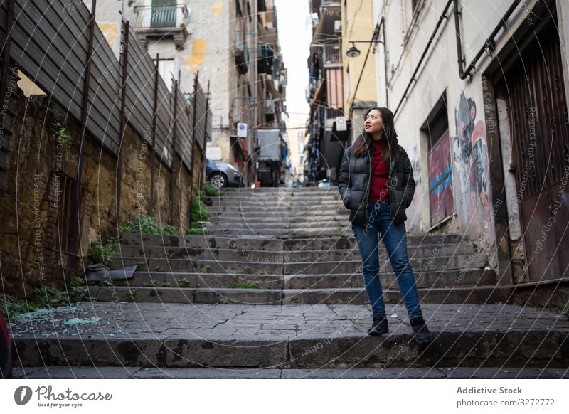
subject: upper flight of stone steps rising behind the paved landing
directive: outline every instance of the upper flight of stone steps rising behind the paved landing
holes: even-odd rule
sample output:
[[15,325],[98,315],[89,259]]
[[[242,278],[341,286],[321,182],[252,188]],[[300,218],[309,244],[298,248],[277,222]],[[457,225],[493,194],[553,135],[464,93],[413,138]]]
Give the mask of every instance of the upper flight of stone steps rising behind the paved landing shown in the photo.
[[[211,235],[122,235],[122,257],[139,265],[113,292],[92,297],[137,302],[367,304],[361,255],[349,211],[335,189],[258,189],[215,197]],[[385,302],[400,303],[395,274],[380,243]],[[408,254],[423,303],[500,303],[486,256],[461,235],[409,235]],[[248,288],[250,286],[250,288]],[[116,297],[116,296],[115,296]]]

